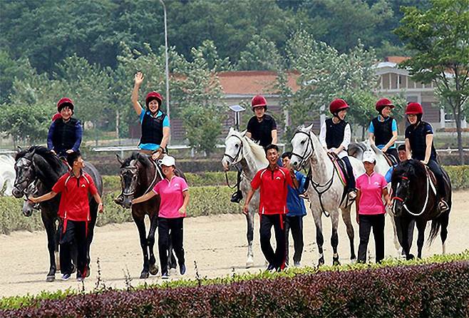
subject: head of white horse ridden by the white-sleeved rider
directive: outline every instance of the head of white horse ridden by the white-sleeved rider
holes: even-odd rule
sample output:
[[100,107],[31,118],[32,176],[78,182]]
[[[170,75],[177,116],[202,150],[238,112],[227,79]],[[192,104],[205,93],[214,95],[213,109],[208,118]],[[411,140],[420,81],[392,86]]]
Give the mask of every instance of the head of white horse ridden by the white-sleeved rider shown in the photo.
[[301,125],[293,135],[291,141],[293,150],[290,163],[292,163],[293,167],[297,170],[303,168],[314,153],[313,140],[311,139],[311,133],[313,133],[312,128],[313,124],[308,127]]

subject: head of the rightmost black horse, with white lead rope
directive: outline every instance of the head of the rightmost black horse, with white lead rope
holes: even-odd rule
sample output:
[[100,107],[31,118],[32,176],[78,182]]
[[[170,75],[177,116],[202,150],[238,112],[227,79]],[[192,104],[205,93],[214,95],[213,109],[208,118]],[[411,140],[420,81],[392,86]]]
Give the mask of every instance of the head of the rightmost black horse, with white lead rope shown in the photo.
[[425,168],[417,160],[403,161],[394,168],[391,187],[393,191],[393,212],[396,217],[402,215],[404,205],[409,203],[408,200],[415,198],[412,182],[415,183],[416,180],[419,180],[421,173],[423,173],[423,176],[425,175]]

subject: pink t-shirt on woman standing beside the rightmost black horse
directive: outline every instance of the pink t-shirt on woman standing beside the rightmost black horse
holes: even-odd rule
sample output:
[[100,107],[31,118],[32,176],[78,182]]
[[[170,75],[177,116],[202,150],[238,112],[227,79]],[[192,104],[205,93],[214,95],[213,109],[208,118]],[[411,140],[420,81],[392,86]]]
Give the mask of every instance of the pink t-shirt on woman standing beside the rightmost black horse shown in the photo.
[[356,188],[360,190],[359,214],[383,214],[384,209],[383,188],[386,188],[386,179],[379,173],[364,173],[356,179]]

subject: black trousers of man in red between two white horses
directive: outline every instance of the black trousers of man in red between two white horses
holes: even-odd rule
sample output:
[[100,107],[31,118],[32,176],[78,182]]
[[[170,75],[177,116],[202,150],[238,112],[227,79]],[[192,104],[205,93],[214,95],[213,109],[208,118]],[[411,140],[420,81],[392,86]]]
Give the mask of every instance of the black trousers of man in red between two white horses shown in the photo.
[[[269,265],[280,269],[285,261],[285,228],[284,218],[285,215],[274,214],[274,215],[261,215],[260,222],[260,240],[261,250],[264,253],[264,257],[269,262]],[[275,252],[270,245],[271,229],[274,227],[276,248]]]

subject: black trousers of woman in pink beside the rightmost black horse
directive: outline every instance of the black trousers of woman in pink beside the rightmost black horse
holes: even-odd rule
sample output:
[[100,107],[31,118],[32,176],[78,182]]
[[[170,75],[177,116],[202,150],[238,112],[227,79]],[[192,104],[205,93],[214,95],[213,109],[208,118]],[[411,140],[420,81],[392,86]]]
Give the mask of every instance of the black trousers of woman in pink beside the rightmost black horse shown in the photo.
[[376,262],[381,262],[384,258],[384,214],[360,214],[359,221],[359,262],[366,262],[366,249],[372,228],[375,241]]

